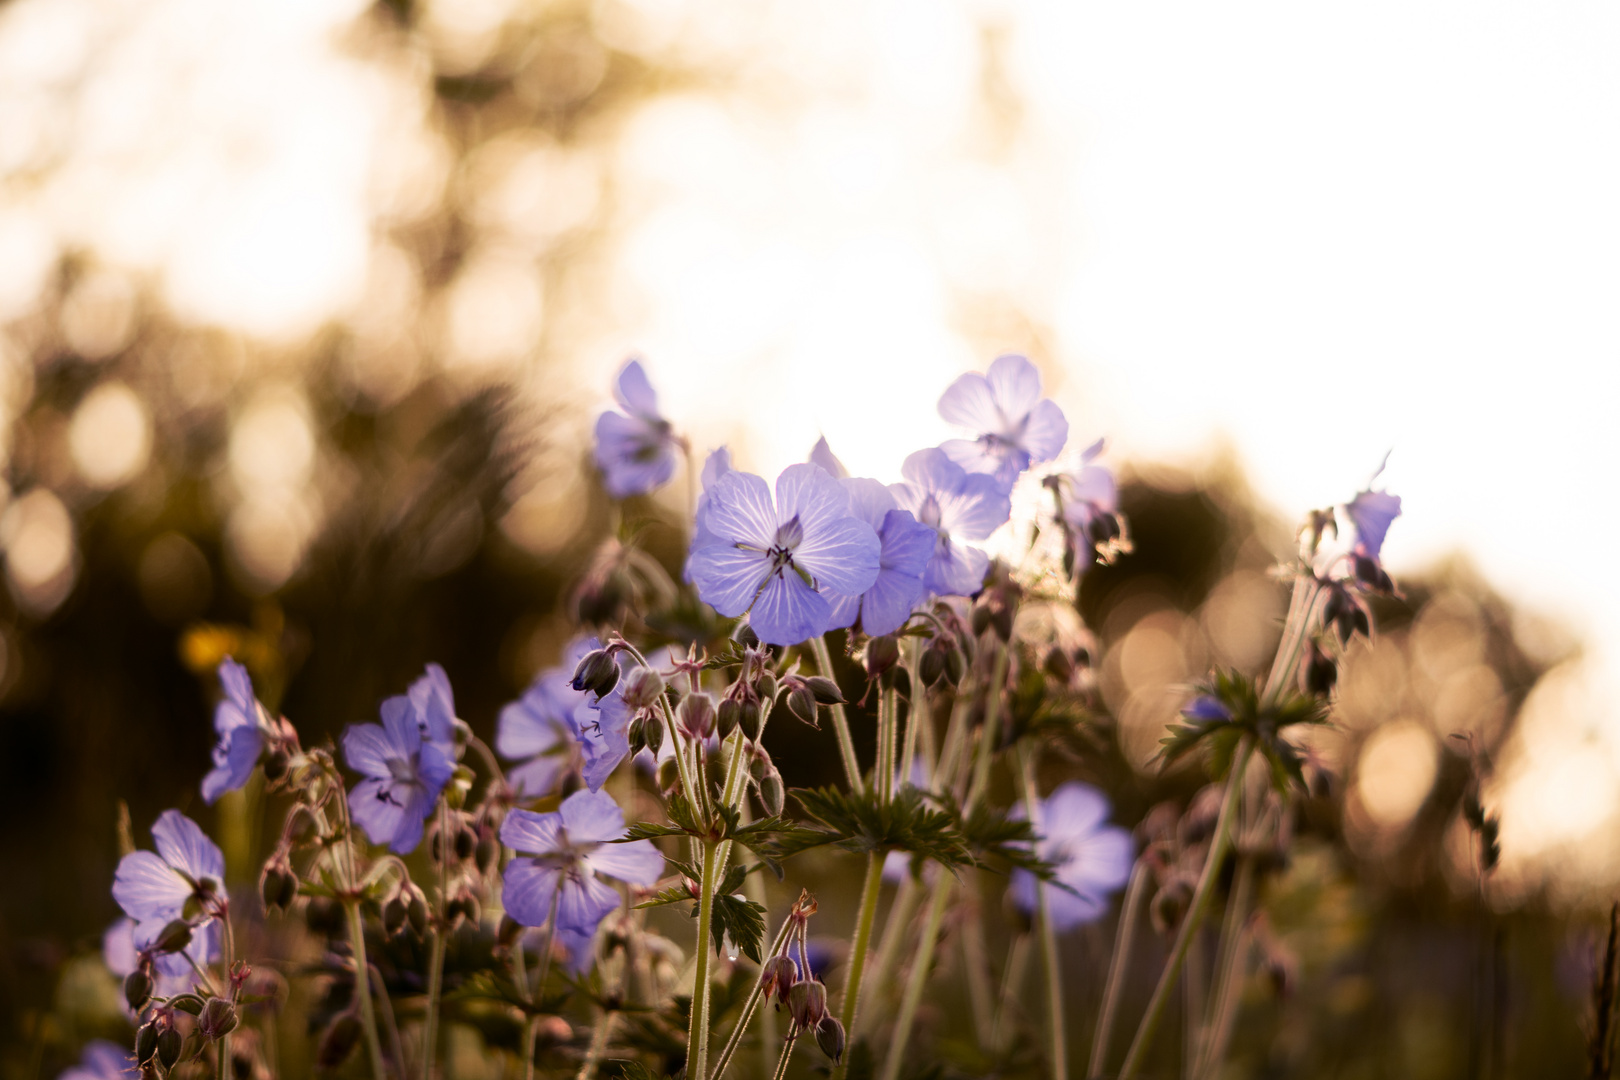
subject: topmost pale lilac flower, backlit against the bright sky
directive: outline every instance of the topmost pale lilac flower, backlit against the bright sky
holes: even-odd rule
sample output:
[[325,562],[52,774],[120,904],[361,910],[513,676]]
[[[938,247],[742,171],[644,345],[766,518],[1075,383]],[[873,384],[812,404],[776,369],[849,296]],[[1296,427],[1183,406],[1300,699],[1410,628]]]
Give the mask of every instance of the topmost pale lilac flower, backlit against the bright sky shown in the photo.
[[1040,372],[1022,356],[996,356],[985,374],[966,374],[940,397],[940,416],[975,432],[941,450],[969,473],[990,473],[1003,489],[1034,461],[1050,461],[1069,439],[1069,421],[1040,397]]

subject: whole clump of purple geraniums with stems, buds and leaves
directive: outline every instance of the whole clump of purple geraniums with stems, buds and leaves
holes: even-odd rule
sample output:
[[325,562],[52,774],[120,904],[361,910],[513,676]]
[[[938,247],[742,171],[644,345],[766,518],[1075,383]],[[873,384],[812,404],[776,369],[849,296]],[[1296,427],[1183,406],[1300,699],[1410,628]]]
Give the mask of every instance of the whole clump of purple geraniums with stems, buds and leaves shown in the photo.
[[[685,444],[640,363],[614,392],[595,455],[624,499],[667,484]],[[202,795],[280,821],[254,860],[258,904],[198,823],[159,814],[156,850],[118,865],[126,918],[104,941],[130,1051],[91,1044],[63,1075],[267,1075],[287,1035],[275,1002],[306,972],[324,986],[306,1059],[337,1069],[364,1046],[374,1080],[437,1075],[446,1023],[525,1077],[842,1078],[859,1062],[896,1080],[927,1069],[919,1018],[951,941],[966,1069],[1061,1080],[1077,975],[1058,938],[1081,925],[1113,939],[1087,1075],[1140,1075],[1183,980],[1197,993],[1170,1043],[1187,1075],[1218,1075],[1257,963],[1257,889],[1307,790],[1302,733],[1330,719],[1369,597],[1396,593],[1380,560],[1400,500],[1364,491],[1311,515],[1268,670],[1210,672],[1165,732],[1162,766],[1199,758],[1209,787],[1132,836],[1113,810],[1129,800],[1082,753],[1113,727],[1074,586],[1129,551],[1102,444],[1063,457],[1068,421],[1021,356],[964,374],[938,408],[970,437],[917,449],[897,479],[849,476],[826,440],[774,483],[726,449],[701,476],[687,460],[685,583],[638,547],[656,523],[604,539],[575,593],[585,625],[497,717],[460,719],[428,664],[381,722],[305,748],[225,659]],[[1009,521],[1014,489],[1038,520]],[[980,547],[1043,529],[1063,536],[1061,567],[1035,565],[1058,557],[1034,541],[1022,563]],[[816,740],[839,780],[789,792],[773,755]],[[829,916],[815,889],[838,866],[860,889]],[[773,912],[776,881],[794,899]],[[1189,973],[1213,910],[1213,968]],[[287,946],[262,920],[322,944]],[[1137,949],[1144,925],[1165,949]],[[1124,993],[1144,955],[1145,1004]],[[1022,1009],[1035,959],[1040,1007]]]

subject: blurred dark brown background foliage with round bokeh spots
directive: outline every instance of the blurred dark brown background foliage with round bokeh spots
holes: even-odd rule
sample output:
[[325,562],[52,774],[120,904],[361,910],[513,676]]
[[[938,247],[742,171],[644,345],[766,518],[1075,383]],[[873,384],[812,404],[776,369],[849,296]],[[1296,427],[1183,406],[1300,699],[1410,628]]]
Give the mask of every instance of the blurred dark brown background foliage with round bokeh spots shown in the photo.
[[[659,96],[757,78],[724,34],[676,47],[685,29],[632,5],[392,0],[348,19],[343,55],[407,115],[368,180],[369,269],[340,317],[222,329],[83,248],[55,253],[0,327],[6,1077],[50,1075],[75,1040],[118,1035],[94,957],[115,916],[120,801],[138,842],[168,806],[214,824],[198,780],[220,654],[249,664],[306,745],[373,717],[428,661],[491,738],[499,706],[554,662],[570,586],[612,528],[572,366],[616,319],[604,248],[645,193],[606,147]],[[993,28],[982,45],[975,108],[995,131],[1019,105]],[[49,91],[79,100],[92,70]],[[8,144],[10,181],[47,188],[83,167],[71,146],[36,142]],[[961,300],[983,356],[1043,355],[1038,319],[995,293]],[[1047,771],[1103,785],[1136,824],[1202,782],[1152,763],[1184,688],[1275,649],[1285,594],[1270,570],[1293,533],[1231,465],[1192,478],[1136,463],[1123,479],[1134,552],[1094,570],[1081,604],[1106,716]],[[625,508],[671,572],[677,504]],[[1482,1061],[1573,1075],[1583,1061],[1592,897],[1549,895],[1536,876],[1482,886],[1460,818],[1476,764],[1515,746],[1528,696],[1573,646],[1463,562],[1401,588],[1312,745],[1322,790],[1262,904],[1288,993],[1249,988],[1230,1075],[1453,1077]],[[831,779],[813,732],[771,737],[813,751],[773,746],[789,785]],[[823,933],[847,925],[844,861],[828,860]],[[1000,905],[998,889],[985,881],[982,904]],[[1105,921],[1064,942],[1085,1036],[1108,939]],[[951,989],[961,950],[941,955],[923,1044],[949,1061],[967,1002]]]

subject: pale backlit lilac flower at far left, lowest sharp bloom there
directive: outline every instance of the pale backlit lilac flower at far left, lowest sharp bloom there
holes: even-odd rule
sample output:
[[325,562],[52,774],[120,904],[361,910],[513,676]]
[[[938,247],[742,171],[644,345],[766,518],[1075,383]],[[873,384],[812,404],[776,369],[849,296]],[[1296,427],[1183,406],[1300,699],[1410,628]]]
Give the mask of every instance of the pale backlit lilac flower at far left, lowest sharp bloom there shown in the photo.
[[[164,923],[181,918],[196,900],[209,916],[225,902],[225,855],[178,810],[165,810],[152,824],[157,852],[130,852],[118,860],[112,899],[133,918],[136,941],[149,941]],[[147,934],[143,934],[147,931]]]

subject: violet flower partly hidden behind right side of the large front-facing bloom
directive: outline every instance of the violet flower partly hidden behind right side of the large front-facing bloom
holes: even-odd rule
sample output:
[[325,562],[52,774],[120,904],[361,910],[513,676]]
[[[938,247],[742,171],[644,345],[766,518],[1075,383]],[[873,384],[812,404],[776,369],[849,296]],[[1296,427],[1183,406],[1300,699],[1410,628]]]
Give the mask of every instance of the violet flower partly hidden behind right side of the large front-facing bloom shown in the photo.
[[[816,444],[825,445],[826,439]],[[833,458],[831,452],[826,457]],[[893,633],[925,593],[922,575],[933,555],[936,533],[897,508],[893,492],[878,481],[850,478],[839,483],[849,492],[849,508],[878,534],[878,576],[860,596],[828,596],[833,602],[828,628],[852,627],[859,617],[860,628],[873,636]]]

